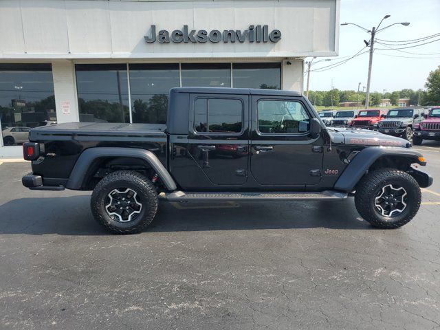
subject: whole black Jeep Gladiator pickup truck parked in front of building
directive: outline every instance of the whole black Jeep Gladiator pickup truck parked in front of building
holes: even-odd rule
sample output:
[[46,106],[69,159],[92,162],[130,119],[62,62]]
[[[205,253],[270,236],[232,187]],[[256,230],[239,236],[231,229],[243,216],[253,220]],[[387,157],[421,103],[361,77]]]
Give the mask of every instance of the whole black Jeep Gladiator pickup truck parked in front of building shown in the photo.
[[[72,122],[32,129],[23,145],[32,190],[93,190],[94,218],[113,233],[151,224],[168,201],[355,197],[378,228],[415,216],[432,178],[399,137],[327,128],[293,91],[170,89],[167,124]],[[295,214],[292,214],[295,217]],[[268,214],[270,219],[270,214]]]

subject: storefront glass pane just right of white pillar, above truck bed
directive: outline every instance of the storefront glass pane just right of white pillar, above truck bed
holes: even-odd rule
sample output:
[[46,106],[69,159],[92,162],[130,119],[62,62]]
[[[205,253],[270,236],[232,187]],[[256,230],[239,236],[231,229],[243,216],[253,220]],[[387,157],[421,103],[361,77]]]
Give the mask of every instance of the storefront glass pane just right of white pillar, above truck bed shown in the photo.
[[126,65],[75,65],[80,122],[130,122]]

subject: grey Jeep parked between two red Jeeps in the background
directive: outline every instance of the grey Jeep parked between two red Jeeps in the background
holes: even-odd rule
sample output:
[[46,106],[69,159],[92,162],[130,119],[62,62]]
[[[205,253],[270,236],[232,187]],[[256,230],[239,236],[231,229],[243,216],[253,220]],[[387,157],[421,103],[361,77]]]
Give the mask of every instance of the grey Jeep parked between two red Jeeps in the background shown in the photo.
[[423,109],[397,108],[389,110],[378,126],[380,133],[401,136],[410,141],[414,126],[422,120]]

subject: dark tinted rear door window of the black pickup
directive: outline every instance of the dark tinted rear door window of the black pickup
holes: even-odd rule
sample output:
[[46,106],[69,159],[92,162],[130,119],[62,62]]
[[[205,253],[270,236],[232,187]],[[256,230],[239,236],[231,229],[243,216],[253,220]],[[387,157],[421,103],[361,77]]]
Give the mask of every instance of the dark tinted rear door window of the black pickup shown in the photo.
[[243,128],[243,103],[227,98],[197,98],[194,104],[194,129],[206,133],[240,133]]

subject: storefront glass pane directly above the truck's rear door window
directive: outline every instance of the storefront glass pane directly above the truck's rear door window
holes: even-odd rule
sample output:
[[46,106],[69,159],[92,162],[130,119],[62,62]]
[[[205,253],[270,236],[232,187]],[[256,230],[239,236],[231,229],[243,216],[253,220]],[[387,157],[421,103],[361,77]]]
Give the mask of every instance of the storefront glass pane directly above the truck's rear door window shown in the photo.
[[181,65],[182,87],[231,87],[230,63]]

